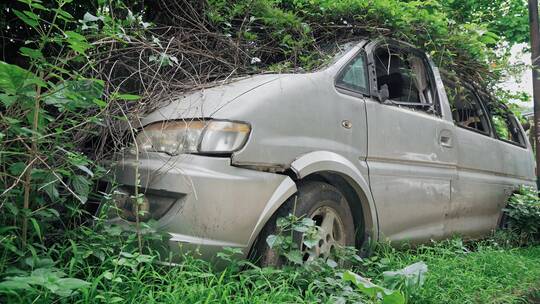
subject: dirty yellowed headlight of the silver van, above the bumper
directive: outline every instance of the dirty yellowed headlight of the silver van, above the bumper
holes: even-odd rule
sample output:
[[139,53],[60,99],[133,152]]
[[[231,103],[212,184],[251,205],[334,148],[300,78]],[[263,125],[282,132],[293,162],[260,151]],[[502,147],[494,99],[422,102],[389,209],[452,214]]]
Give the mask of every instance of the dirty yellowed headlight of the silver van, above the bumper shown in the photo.
[[241,149],[249,136],[247,123],[226,120],[171,120],[145,126],[131,152],[226,154]]

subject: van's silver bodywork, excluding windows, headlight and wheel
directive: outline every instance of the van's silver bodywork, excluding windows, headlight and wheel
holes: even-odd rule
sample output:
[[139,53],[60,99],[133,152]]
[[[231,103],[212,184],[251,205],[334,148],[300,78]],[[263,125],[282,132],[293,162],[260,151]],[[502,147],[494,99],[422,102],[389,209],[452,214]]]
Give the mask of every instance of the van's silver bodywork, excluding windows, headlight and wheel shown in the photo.
[[[251,127],[245,145],[226,156],[145,152],[137,161],[126,154],[115,167],[117,180],[133,192],[138,167],[150,204],[160,196],[175,202],[158,220],[171,235],[171,248],[199,248],[207,258],[224,246],[247,255],[297,191],[296,182],[313,174],[347,183],[357,198],[349,203],[359,206],[370,239],[417,243],[494,229],[512,191],[534,185],[530,145],[456,126],[429,60],[437,114],[382,103],[374,91],[376,46],[362,41],[317,72],[258,75],[179,97],[141,125],[242,121]],[[340,71],[363,53],[369,89],[360,94],[338,88]]]

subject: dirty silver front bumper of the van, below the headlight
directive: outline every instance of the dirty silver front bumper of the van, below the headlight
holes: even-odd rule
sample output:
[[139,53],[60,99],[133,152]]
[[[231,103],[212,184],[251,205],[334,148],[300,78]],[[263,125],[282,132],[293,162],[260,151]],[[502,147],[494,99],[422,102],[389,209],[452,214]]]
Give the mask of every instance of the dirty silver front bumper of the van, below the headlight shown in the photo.
[[139,192],[150,205],[159,199],[174,201],[157,220],[157,229],[170,234],[173,252],[198,252],[204,259],[223,247],[240,248],[247,255],[266,220],[296,191],[286,175],[234,167],[229,158],[147,153],[138,162],[128,158],[114,168],[116,181],[131,191],[138,171]]

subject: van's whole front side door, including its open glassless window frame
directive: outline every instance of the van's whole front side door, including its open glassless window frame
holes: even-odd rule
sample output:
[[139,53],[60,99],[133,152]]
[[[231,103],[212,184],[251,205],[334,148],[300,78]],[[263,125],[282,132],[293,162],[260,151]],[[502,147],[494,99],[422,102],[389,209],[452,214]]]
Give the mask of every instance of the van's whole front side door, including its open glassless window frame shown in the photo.
[[367,164],[380,238],[443,238],[457,171],[454,125],[443,115],[448,106],[438,71],[407,45],[374,42],[366,50],[374,96],[366,101]]

